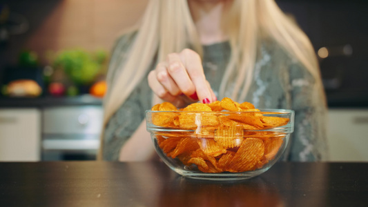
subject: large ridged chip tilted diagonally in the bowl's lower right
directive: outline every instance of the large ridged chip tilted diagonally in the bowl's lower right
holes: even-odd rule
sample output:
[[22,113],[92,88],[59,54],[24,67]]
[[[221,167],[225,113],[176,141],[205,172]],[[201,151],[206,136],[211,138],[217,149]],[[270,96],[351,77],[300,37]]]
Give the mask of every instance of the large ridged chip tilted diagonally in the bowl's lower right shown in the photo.
[[254,170],[263,155],[264,144],[262,139],[246,138],[226,167],[226,170],[229,172]]

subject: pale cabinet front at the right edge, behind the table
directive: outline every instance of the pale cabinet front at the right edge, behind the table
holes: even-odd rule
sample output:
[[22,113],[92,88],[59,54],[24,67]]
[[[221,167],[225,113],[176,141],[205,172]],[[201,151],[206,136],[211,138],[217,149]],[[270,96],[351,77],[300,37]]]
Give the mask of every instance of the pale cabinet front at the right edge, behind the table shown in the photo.
[[330,109],[330,161],[368,161],[368,109]]

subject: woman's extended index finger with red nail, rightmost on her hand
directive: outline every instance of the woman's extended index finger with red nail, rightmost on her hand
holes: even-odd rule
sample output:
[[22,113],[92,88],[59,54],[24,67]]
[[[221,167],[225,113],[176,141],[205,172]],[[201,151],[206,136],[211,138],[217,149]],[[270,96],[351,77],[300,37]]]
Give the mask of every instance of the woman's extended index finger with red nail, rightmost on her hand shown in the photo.
[[203,103],[213,102],[212,90],[211,87],[207,85],[200,55],[193,50],[184,49],[180,52],[180,59],[195,86],[195,92],[197,92],[198,99]]

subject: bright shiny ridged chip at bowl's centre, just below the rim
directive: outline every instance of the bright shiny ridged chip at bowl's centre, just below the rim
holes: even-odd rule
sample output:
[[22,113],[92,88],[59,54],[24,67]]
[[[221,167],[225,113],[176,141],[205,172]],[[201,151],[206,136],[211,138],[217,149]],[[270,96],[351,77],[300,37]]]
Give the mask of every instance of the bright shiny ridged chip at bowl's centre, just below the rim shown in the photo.
[[217,128],[213,140],[225,149],[235,148],[242,144],[243,128],[237,126]]

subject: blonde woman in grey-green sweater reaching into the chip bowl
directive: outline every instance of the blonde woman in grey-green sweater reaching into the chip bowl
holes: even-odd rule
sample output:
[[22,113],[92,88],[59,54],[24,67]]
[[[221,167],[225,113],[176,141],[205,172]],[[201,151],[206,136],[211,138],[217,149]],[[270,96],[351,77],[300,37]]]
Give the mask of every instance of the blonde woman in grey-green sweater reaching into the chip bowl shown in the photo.
[[[327,159],[325,95],[307,36],[273,0],[153,0],[116,43],[99,159],[155,157],[144,111],[231,97],[296,110],[284,159]],[[211,85],[211,86],[210,86]]]

